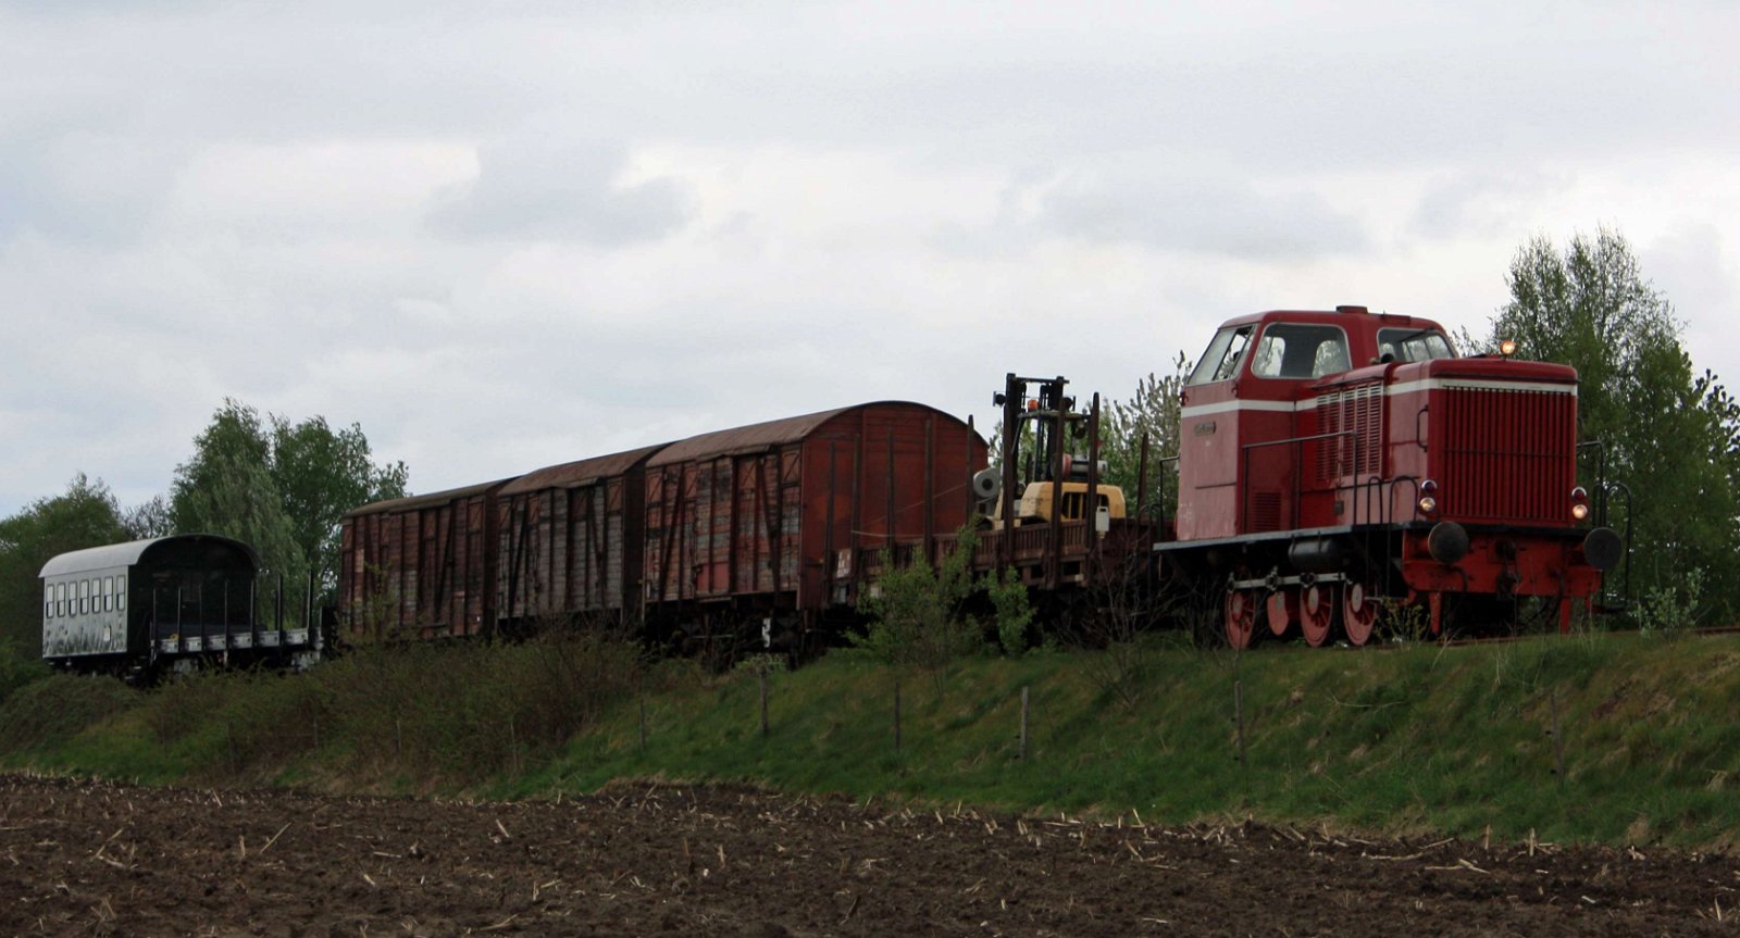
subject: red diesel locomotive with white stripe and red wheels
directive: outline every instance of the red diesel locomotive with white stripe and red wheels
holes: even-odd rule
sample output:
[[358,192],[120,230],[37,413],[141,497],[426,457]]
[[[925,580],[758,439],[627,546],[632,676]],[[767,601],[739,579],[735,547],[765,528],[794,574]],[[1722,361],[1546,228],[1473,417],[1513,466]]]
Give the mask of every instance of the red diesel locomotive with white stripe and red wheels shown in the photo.
[[1589,604],[1623,543],[1578,486],[1576,372],[1458,358],[1430,320],[1268,312],[1228,320],[1183,388],[1162,564],[1223,585],[1228,642],[1260,621],[1364,644],[1385,611],[1493,621],[1516,599]]

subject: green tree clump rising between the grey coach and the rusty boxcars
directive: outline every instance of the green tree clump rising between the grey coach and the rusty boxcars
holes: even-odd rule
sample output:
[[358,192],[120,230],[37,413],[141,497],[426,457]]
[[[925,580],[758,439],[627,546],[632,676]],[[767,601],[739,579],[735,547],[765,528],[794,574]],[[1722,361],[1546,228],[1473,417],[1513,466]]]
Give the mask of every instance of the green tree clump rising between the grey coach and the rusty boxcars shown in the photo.
[[[376,466],[369,440],[351,425],[334,432],[325,418],[301,423],[226,399],[193,439],[193,456],[176,466],[169,517],[183,534],[247,541],[285,588],[315,573],[320,592],[336,588],[338,529],[345,512],[405,492],[405,465]],[[263,592],[263,595],[266,595]]]

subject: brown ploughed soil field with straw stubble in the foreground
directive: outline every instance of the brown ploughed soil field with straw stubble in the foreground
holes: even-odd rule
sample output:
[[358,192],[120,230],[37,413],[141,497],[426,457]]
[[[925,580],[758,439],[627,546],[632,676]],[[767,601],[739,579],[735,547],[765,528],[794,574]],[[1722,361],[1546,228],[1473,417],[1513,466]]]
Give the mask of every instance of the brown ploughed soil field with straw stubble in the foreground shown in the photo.
[[1740,858],[642,785],[461,804],[0,776],[0,935],[1740,935]]

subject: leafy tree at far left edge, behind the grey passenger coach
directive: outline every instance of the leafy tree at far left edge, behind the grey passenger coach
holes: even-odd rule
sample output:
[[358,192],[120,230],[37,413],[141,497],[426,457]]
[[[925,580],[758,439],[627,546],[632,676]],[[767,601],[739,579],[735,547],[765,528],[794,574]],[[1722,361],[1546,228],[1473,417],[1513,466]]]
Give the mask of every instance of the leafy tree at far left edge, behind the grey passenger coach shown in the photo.
[[40,658],[42,566],[70,550],[125,539],[115,496],[101,479],[92,482],[84,473],[73,477],[66,494],[37,499],[0,520],[0,646]]

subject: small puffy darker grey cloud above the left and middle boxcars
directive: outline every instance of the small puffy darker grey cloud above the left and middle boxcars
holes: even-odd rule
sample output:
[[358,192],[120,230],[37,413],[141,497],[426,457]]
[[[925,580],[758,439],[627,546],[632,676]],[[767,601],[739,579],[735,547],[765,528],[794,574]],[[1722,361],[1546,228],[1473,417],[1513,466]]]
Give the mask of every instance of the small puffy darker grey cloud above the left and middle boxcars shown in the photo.
[[477,164],[475,179],[435,197],[430,231],[609,247],[658,240],[694,212],[679,179],[625,179],[628,160],[618,144],[520,134],[480,148]]

